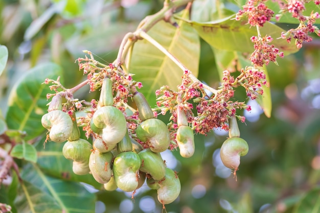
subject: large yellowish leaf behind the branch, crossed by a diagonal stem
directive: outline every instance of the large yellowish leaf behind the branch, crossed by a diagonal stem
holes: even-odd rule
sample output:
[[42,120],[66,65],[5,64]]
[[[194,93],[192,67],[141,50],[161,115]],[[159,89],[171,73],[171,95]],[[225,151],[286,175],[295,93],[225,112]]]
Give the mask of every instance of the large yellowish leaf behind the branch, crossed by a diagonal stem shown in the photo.
[[[181,17],[188,18],[187,10]],[[200,42],[197,33],[184,21],[178,21],[179,28],[167,22],[159,21],[148,32],[157,42],[164,46],[174,57],[184,64],[191,72],[198,75]],[[135,74],[134,80],[141,81],[140,89],[151,106],[155,105],[155,90],[163,85],[175,90],[181,84],[183,72],[161,51],[147,40],[134,44],[130,73]]]

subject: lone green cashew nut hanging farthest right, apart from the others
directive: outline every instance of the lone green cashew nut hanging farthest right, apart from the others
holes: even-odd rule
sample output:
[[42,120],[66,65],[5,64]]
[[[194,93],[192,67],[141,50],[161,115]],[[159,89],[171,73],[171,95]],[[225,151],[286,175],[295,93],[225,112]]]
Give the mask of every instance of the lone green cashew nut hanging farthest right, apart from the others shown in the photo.
[[227,168],[236,172],[240,165],[240,156],[246,155],[248,151],[249,147],[244,139],[231,137],[223,142],[220,149],[220,157]]

